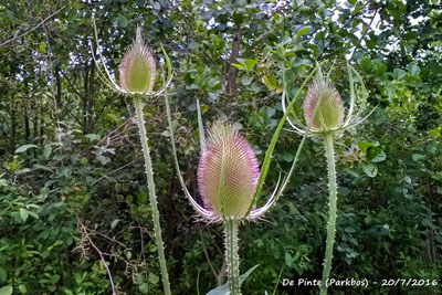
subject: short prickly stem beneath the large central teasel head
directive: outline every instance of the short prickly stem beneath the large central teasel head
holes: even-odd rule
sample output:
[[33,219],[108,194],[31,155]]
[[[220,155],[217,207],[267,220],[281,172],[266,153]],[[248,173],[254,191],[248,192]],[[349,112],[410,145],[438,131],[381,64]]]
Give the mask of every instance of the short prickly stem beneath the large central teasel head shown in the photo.
[[228,263],[230,295],[241,295],[240,257],[238,256],[238,220],[224,222],[225,260]]

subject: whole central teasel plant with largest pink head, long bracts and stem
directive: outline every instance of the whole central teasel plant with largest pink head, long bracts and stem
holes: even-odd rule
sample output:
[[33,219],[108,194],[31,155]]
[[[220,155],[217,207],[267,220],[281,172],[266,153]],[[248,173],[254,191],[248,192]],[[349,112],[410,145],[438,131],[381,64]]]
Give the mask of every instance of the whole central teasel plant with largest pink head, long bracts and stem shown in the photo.
[[[240,259],[238,231],[239,225],[245,221],[261,219],[269,209],[277,201],[285,190],[291,176],[295,169],[306,136],[297,147],[295,158],[288,173],[283,180],[281,175],[277,183],[262,207],[257,207],[263,185],[271,165],[272,154],[278,139],[278,135],[285,124],[288,113],[294,107],[303,88],[315,74],[315,67],[305,78],[302,86],[295,93],[291,104],[284,112],[280,124],[272,137],[260,170],[252,147],[238,130],[230,124],[214,123],[204,138],[202,129],[201,112],[198,112],[199,141],[201,145],[200,162],[198,167],[198,186],[203,203],[199,204],[186,187],[180,173],[177,148],[175,144],[173,126],[167,92],[165,93],[166,113],[169,123],[169,136],[172,146],[176,169],[182,190],[193,209],[202,220],[213,223],[222,222],[224,226],[225,261],[228,270],[228,283],[215,288],[223,294],[240,295],[241,284],[257,266],[250,268],[240,275]],[[199,102],[197,101],[197,106]],[[314,114],[315,115],[315,114]],[[307,124],[307,130],[311,124]],[[217,293],[218,294],[218,293]]]

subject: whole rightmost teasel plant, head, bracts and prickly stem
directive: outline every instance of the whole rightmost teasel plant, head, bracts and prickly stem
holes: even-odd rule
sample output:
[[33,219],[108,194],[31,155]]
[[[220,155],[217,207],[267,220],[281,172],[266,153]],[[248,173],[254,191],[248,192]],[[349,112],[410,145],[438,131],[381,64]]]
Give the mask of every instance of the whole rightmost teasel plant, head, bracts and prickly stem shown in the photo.
[[[345,115],[344,101],[336,87],[332,84],[329,73],[327,76],[324,76],[320,65],[317,65],[316,76],[307,88],[307,94],[303,104],[305,124],[298,118],[295,112],[292,112],[292,118],[290,116],[286,117],[288,124],[293,127],[293,131],[303,136],[303,139],[305,137],[315,136],[324,140],[328,171],[329,202],[320,295],[327,294],[336,234],[337,182],[334,149],[335,139],[340,137],[345,130],[354,128],[365,122],[376,109],[373,108],[367,116],[361,117],[367,108],[367,89],[365,88],[362,78],[349,63],[347,63],[347,69],[350,84],[350,104],[347,116]],[[358,101],[355,94],[355,76],[360,85],[360,97]],[[288,109],[286,108],[286,101],[287,97],[283,94],[282,107],[284,112]]]

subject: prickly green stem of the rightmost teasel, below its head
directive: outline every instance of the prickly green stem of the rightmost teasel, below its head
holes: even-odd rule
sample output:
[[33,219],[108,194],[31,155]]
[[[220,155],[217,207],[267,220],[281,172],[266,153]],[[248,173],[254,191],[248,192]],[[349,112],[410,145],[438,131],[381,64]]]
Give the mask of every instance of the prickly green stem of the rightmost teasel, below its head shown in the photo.
[[333,245],[335,243],[335,229],[336,229],[336,201],[337,201],[337,186],[336,186],[336,167],[335,167],[335,150],[333,133],[326,135],[324,140],[325,154],[327,157],[328,168],[328,191],[329,191],[329,203],[328,203],[328,224],[327,224],[327,243],[325,246],[325,259],[324,259],[324,271],[323,280],[320,284],[320,295],[327,294],[327,284],[330,276],[332,259],[333,259]]

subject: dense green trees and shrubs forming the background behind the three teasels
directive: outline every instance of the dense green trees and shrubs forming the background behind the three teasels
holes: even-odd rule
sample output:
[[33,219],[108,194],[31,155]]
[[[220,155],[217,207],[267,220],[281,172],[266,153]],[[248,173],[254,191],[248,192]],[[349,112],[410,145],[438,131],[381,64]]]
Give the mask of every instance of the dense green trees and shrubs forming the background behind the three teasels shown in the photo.
[[[157,64],[160,44],[171,56],[173,124],[193,196],[197,98],[207,124],[236,123],[262,160],[283,114],[283,71],[294,93],[315,60],[334,63],[332,80],[348,102],[350,60],[378,107],[337,145],[332,276],[378,282],[369,294],[441,293],[440,0],[0,0],[0,294],[110,294],[102,260],[119,294],[161,293],[131,104],[97,77],[93,14],[110,69],[137,24]],[[145,113],[173,293],[206,294],[225,280],[222,229],[196,222],[180,190],[162,98]],[[282,133],[269,191],[299,140]],[[276,285],[276,294],[317,292],[281,284],[322,273],[326,167],[322,145],[307,143],[265,221],[240,231],[241,271],[260,264],[244,294]],[[381,287],[382,278],[439,284]]]

